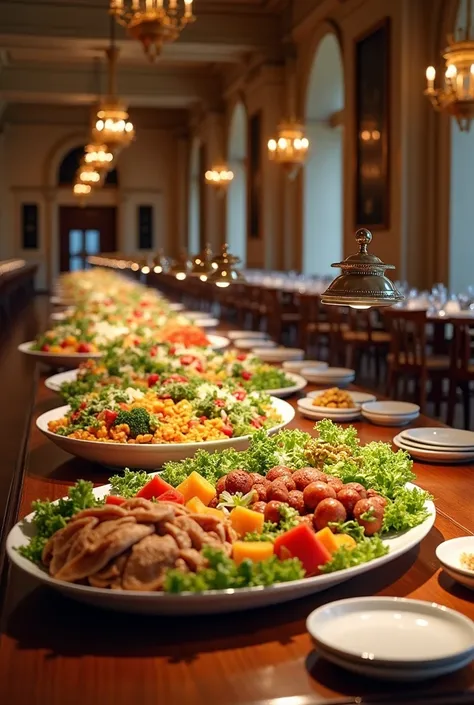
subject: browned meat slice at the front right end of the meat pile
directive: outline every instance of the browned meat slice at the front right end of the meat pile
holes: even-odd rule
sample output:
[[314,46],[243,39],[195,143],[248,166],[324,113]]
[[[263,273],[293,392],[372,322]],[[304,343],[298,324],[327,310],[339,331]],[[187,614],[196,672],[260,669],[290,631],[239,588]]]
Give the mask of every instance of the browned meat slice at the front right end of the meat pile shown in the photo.
[[166,571],[175,565],[179,549],[171,536],[152,534],[136,543],[122,577],[125,590],[159,590]]

